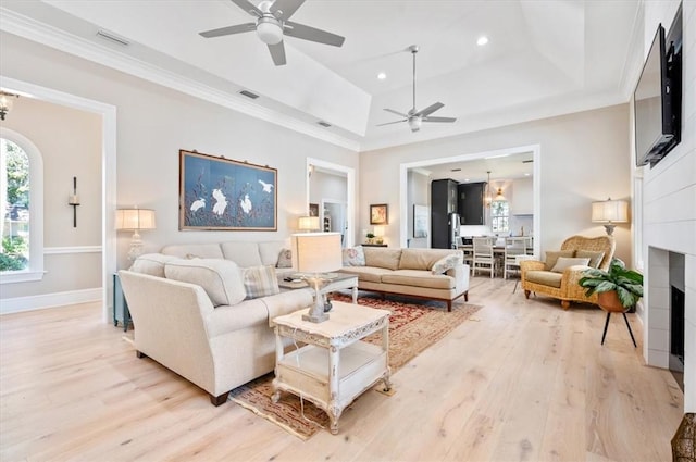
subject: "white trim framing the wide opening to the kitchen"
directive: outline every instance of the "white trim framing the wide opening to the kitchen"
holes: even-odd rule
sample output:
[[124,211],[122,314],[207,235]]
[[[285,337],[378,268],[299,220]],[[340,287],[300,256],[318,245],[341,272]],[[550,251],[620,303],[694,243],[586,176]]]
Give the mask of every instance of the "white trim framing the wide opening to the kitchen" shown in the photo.
[[[518,146],[514,148],[505,148],[494,151],[475,152],[471,154],[459,154],[450,158],[427,159],[417,162],[407,162],[399,165],[399,203],[401,216],[408,216],[408,173],[409,170],[415,170],[426,167],[431,165],[447,164],[451,162],[465,162],[477,159],[485,159],[492,157],[505,157],[521,154],[524,152],[532,152],[534,159],[534,173],[533,175],[533,198],[534,198],[534,254],[538,258],[540,252],[540,223],[542,223],[542,146],[529,145]],[[406,248],[408,245],[408,220],[401,220],[399,224],[399,246]]]

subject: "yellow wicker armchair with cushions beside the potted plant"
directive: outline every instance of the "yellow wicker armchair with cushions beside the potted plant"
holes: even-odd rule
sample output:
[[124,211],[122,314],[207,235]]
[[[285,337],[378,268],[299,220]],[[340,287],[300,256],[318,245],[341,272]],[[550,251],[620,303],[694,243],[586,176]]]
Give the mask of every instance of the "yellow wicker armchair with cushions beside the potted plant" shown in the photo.
[[560,299],[564,310],[571,301],[597,304],[597,295],[585,297],[577,282],[587,267],[607,270],[616,246],[612,236],[572,236],[563,241],[560,252],[547,251],[546,261],[520,262],[524,296],[529,299],[535,292]]

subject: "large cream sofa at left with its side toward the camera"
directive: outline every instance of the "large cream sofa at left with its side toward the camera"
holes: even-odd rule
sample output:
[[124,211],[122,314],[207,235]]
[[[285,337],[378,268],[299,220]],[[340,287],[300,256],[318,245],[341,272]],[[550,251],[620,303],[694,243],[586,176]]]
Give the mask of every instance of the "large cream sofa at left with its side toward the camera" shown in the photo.
[[[312,292],[245,300],[239,267],[273,265],[283,248],[283,242],[167,246],[163,254],[138,259],[133,271],[120,271],[138,357],[198,385],[215,405],[233,388],[273,371],[270,320],[310,305]],[[284,271],[291,269],[278,269]]]

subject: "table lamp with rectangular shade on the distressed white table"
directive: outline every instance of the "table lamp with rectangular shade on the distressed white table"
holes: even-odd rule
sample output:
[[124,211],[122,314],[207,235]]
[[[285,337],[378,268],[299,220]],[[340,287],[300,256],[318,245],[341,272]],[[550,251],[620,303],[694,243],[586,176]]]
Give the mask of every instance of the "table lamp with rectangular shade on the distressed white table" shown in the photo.
[[302,279],[314,288],[314,304],[302,315],[303,321],[322,323],[328,320],[324,312],[321,285],[327,279],[325,273],[343,266],[340,233],[304,233],[293,235],[293,266],[306,273]]

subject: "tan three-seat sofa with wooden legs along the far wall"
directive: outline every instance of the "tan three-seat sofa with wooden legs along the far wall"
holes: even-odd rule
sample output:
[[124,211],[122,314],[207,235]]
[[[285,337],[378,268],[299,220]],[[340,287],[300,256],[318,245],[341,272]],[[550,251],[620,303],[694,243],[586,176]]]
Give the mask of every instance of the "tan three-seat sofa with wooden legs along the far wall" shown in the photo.
[[452,300],[461,296],[469,300],[469,265],[463,264],[461,250],[358,246],[345,254],[349,252],[353,253],[344,258],[340,272],[358,276],[361,290],[442,300],[447,311],[452,310]]

